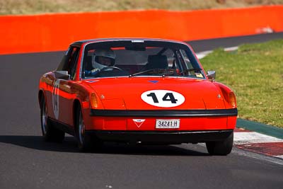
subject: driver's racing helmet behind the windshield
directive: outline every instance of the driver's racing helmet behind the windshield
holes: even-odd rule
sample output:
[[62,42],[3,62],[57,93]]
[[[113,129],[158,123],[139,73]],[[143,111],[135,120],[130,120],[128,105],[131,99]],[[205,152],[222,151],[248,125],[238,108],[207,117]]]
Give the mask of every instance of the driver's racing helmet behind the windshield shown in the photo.
[[92,57],[93,68],[103,69],[104,67],[112,67],[115,64],[115,53],[111,49],[98,49],[93,52]]

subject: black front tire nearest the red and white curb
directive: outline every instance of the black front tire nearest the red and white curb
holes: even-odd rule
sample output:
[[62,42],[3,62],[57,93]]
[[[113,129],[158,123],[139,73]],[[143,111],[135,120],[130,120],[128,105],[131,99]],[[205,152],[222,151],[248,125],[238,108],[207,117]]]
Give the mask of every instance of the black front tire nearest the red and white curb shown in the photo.
[[206,145],[210,155],[226,156],[233,148],[233,132],[223,141],[206,142]]

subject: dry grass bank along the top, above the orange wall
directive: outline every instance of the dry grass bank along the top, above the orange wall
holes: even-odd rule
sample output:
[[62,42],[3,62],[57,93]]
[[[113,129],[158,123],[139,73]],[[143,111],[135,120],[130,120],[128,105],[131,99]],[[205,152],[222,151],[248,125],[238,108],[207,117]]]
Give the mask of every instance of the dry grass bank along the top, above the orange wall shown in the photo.
[[283,0],[0,0],[0,15],[141,9],[192,10],[283,4]]

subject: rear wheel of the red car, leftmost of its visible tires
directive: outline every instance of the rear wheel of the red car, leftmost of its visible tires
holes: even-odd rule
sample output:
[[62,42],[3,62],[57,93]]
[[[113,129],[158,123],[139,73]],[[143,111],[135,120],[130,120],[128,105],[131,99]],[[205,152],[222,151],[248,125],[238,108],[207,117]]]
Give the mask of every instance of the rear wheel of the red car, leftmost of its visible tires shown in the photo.
[[41,98],[40,120],[42,137],[46,142],[62,142],[64,140],[65,132],[54,127],[48,118],[44,97]]

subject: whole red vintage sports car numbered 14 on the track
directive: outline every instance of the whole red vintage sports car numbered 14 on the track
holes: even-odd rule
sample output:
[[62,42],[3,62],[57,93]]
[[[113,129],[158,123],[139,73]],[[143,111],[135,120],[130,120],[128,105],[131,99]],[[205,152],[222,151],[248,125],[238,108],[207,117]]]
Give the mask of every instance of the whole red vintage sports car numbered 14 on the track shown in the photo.
[[205,142],[209,154],[233,147],[233,91],[204,72],[185,42],[114,38],[74,42],[40,78],[42,135],[65,132],[86,151],[103,142]]

